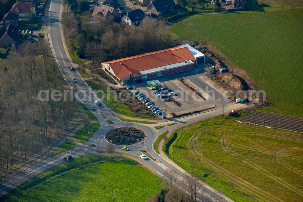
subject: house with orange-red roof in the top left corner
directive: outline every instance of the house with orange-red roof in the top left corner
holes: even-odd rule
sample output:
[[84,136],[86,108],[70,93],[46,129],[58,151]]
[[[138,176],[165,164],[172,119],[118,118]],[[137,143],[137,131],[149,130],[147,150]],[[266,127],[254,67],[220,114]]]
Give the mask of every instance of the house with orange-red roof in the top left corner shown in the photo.
[[29,15],[36,16],[36,6],[33,2],[18,1],[12,6],[11,12],[18,14],[19,18],[28,18]]

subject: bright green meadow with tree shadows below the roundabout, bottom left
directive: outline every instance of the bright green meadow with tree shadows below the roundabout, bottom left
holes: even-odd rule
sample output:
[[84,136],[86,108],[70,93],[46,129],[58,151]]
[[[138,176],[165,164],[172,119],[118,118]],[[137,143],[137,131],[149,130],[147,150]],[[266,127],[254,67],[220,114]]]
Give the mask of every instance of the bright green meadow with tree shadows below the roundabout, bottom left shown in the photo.
[[[161,179],[134,160],[91,154],[65,162],[10,191],[4,201],[145,201]],[[144,190],[144,191],[142,191]]]

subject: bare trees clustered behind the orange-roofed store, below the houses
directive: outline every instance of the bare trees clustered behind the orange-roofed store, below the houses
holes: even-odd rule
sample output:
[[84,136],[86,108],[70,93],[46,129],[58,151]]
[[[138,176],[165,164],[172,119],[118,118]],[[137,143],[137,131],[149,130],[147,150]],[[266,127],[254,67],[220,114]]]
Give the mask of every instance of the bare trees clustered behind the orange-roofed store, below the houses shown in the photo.
[[62,19],[69,47],[80,58],[86,57],[93,62],[119,59],[174,45],[165,22],[149,17],[135,27],[102,16],[92,17],[90,12],[82,13],[81,17],[73,12],[64,13]]

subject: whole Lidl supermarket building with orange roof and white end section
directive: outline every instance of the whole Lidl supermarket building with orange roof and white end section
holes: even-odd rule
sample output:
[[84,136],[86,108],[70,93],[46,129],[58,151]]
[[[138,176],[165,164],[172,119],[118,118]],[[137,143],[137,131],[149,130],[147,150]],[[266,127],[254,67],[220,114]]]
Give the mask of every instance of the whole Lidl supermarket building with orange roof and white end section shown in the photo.
[[190,45],[144,53],[102,63],[102,69],[123,85],[194,69],[205,56]]

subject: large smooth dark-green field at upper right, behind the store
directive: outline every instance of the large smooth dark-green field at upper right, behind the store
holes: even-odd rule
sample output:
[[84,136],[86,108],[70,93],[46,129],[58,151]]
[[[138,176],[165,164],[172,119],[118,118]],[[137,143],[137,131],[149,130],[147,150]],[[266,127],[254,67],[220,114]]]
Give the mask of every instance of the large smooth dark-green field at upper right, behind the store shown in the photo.
[[244,69],[273,102],[262,109],[302,117],[302,16],[303,8],[271,7],[195,15],[173,24],[172,32],[182,39],[210,42]]

